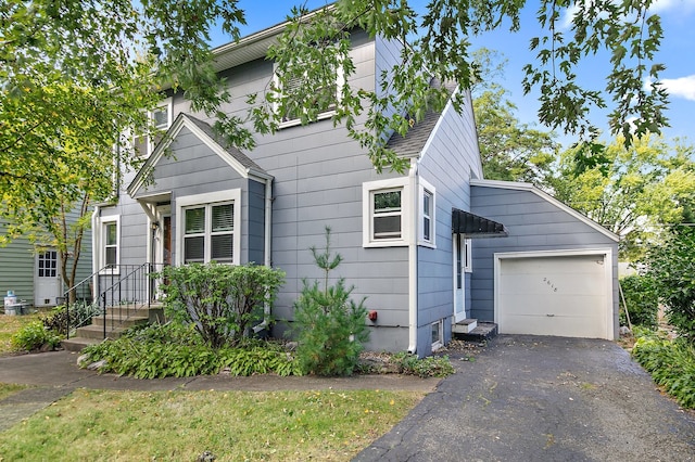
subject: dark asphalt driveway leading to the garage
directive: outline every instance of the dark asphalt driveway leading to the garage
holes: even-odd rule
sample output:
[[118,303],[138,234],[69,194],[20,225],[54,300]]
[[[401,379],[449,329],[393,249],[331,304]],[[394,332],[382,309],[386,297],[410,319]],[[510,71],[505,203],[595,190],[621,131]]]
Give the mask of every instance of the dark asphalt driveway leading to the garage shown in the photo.
[[356,461],[695,461],[695,413],[615,343],[502,335]]

